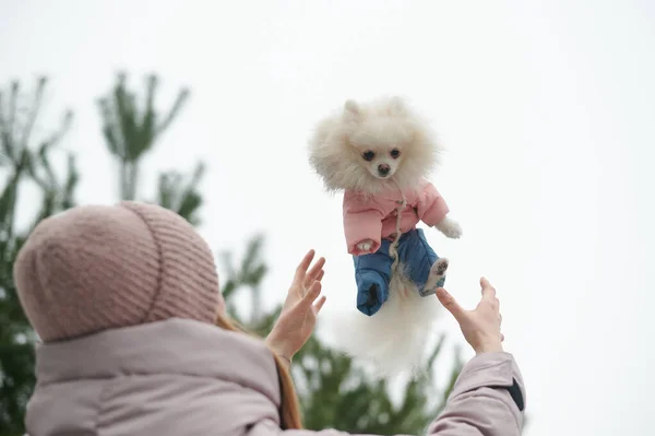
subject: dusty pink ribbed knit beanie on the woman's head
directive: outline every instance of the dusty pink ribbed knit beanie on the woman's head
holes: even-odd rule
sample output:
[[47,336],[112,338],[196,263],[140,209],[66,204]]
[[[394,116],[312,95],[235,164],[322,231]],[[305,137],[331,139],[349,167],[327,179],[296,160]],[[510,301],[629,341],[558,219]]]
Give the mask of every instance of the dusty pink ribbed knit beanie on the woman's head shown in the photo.
[[44,342],[224,310],[214,257],[180,215],[154,204],[85,205],[41,221],[14,264]]

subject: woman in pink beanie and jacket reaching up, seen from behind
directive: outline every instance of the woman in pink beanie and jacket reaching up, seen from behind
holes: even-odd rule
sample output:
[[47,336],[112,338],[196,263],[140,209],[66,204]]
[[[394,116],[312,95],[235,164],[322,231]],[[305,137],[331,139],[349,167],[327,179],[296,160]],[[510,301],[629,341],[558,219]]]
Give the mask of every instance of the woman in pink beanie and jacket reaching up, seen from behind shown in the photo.
[[[315,325],[324,259],[298,266],[265,341],[227,318],[212,252],[157,205],[80,207],[44,220],[14,266],[21,303],[43,343],[31,436],[324,436],[301,429],[287,367]],[[433,436],[519,435],[523,384],[502,351],[498,299],[483,280],[476,310],[443,290],[477,352]],[[218,326],[218,328],[216,327]]]

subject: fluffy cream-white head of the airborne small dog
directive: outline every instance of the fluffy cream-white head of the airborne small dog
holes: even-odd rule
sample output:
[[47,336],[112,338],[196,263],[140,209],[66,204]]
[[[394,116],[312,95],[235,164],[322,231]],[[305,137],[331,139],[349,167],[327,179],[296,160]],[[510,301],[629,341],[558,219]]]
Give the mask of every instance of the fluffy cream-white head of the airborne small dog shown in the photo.
[[310,161],[329,189],[366,192],[415,186],[432,169],[439,150],[400,98],[346,102],[341,114],[318,125],[310,146]]

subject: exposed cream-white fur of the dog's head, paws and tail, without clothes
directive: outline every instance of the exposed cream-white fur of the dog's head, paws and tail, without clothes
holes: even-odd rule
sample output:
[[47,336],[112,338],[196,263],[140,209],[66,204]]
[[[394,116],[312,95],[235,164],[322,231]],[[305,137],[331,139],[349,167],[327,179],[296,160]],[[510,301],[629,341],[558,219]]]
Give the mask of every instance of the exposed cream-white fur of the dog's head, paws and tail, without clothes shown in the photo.
[[[310,164],[329,191],[370,195],[417,186],[439,164],[441,150],[428,125],[398,97],[346,102],[318,123],[309,143]],[[436,227],[446,237],[462,234],[450,216]],[[334,326],[342,349],[373,361],[381,374],[420,365],[440,307],[434,296],[419,295],[403,268],[393,275],[390,297],[376,315],[356,311]]]

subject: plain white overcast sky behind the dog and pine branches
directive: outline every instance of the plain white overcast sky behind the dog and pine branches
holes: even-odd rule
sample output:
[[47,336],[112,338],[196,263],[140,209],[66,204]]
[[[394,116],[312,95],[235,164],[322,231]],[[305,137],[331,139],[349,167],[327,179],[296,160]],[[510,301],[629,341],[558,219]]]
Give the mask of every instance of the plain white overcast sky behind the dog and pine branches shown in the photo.
[[190,86],[141,197],[157,170],[204,160],[203,235],[219,251],[265,233],[266,304],[307,249],[326,256],[326,330],[356,291],[341,198],[308,166],[309,131],[345,98],[408,97],[449,149],[433,181],[464,227],[429,240],[462,304],[475,305],[480,275],[497,286],[526,435],[646,435],[654,20],[648,0],[0,0],[0,82],[50,78],[44,129],[74,109],[63,145],[79,153],[85,203],[117,195],[95,106],[115,73],[142,90],[157,72],[166,107]]

